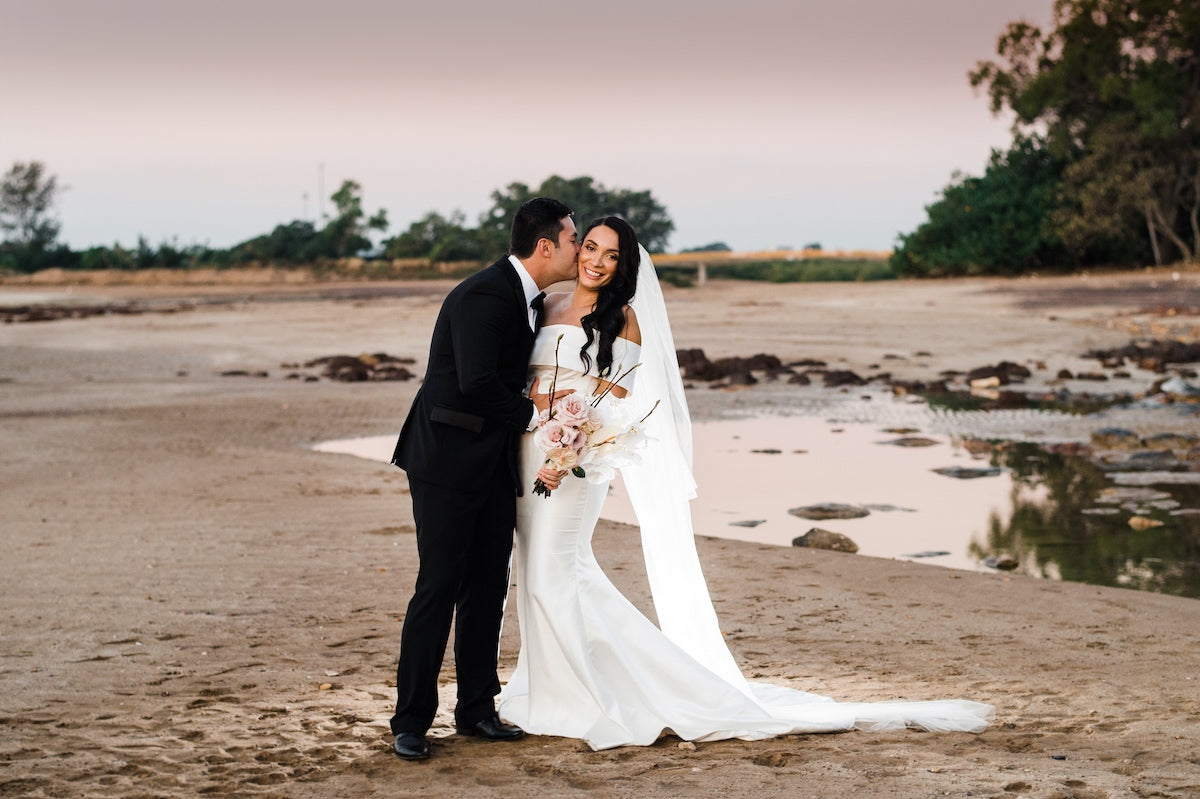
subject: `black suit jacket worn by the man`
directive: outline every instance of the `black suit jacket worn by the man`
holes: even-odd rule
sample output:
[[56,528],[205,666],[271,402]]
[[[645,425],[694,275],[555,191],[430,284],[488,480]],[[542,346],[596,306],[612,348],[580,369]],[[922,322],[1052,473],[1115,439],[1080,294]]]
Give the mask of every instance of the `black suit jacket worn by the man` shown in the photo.
[[533,342],[521,278],[506,257],[456,286],[433,325],[425,382],[391,462],[418,480],[467,492],[493,481],[503,464],[520,495]]

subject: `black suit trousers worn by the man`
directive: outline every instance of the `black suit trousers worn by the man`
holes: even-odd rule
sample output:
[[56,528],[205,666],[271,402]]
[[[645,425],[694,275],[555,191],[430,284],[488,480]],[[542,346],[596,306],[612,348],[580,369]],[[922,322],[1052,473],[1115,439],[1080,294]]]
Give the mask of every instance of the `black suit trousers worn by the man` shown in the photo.
[[508,464],[488,491],[461,491],[409,476],[420,569],[400,637],[392,733],[424,733],[438,708],[438,673],[455,630],[458,703],[469,727],[496,713],[497,642],[512,559],[516,503]]

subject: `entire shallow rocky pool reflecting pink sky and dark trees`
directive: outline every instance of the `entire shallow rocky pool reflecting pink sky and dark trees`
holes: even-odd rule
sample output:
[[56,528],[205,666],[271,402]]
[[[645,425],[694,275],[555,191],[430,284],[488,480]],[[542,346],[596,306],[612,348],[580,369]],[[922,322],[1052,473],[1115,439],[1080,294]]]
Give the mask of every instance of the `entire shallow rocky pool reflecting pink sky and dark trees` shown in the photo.
[[[932,444],[898,446],[904,433],[883,425],[815,416],[697,423],[696,533],[791,546],[823,528],[866,555],[974,570],[1012,558],[1018,572],[1037,577],[1200,597],[1200,486],[1117,486],[1115,475],[1055,445],[917,434]],[[388,461],[394,444],[383,435],[317,449]],[[998,473],[935,471],[989,465]],[[787,512],[817,503],[870,515],[809,521]],[[619,481],[604,516],[636,523]],[[1148,519],[1146,529],[1130,527],[1134,516]]]

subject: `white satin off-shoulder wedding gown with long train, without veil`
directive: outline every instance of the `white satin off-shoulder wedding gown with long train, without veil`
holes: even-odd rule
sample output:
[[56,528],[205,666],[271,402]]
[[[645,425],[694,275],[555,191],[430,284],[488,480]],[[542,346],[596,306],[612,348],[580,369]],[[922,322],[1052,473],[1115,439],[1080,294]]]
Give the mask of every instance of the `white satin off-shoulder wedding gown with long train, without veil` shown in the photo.
[[[542,329],[530,379],[540,377],[547,385],[558,361],[558,388],[590,395],[596,379],[586,376],[578,358],[583,342],[576,326]],[[613,364],[636,362],[638,350],[618,338]],[[523,441],[527,486],[542,461],[533,439],[527,434]],[[851,728],[978,732],[986,727],[991,708],[978,702],[834,702],[748,683],[724,642],[714,643],[712,635],[698,636],[706,651],[680,645],[634,607],[596,563],[592,534],[607,489],[607,483],[568,476],[550,498],[527,492],[517,501],[521,651],[500,693],[498,709],[505,721],[534,734],[580,738],[596,750],[652,744],[665,731],[703,741]],[[715,623],[710,602],[691,612]],[[688,643],[685,637],[680,641]]]

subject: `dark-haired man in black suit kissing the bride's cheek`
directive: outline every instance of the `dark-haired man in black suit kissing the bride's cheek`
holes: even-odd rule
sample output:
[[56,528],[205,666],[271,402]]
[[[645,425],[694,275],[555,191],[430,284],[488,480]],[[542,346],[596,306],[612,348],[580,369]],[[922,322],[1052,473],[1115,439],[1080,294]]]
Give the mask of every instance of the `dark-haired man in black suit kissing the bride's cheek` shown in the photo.
[[[535,402],[526,370],[541,323],[541,289],[576,272],[571,210],[535,198],[512,220],[510,254],[455,287],[433,325],[425,382],[391,462],[408,473],[420,567],[400,636],[392,750],[430,756],[438,672],[455,619],[460,735],[512,740],[496,715],[496,667],[516,525],[521,433]],[[455,615],[457,617],[455,618]]]

